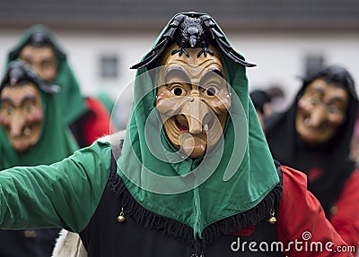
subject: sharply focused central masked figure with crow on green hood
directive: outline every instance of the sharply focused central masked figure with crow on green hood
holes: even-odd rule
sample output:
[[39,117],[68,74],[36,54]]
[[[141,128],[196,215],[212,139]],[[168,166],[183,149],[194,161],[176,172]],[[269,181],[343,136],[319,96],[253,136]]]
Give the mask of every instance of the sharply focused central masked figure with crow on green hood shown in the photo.
[[[253,252],[245,245],[288,246],[303,232],[334,249],[346,246],[306,190],[305,176],[275,165],[245,66],[252,64],[210,16],[176,15],[133,66],[126,133],[51,166],[0,173],[0,227],[66,228],[56,256],[282,256],[284,249]],[[32,185],[32,176],[41,182]]]

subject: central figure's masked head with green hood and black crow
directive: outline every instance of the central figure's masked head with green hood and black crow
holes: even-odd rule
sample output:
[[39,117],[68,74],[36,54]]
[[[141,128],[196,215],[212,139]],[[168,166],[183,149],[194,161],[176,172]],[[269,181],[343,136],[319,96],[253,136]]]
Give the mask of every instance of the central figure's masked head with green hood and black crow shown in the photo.
[[[202,48],[205,44],[200,38],[194,47],[187,45],[185,40],[190,43],[191,31],[198,28],[197,25],[191,28],[191,22],[197,24],[200,21],[206,24],[205,27],[214,29],[206,33],[221,33],[219,40],[223,45],[214,40],[210,41],[209,47]],[[223,46],[230,44],[206,13],[176,15],[162,30],[149,54],[133,66],[138,72],[126,139],[121,154],[117,155],[117,150],[113,149],[118,158],[118,175],[136,201],[145,210],[179,221],[177,224],[185,224],[173,226],[172,233],[180,234],[184,229],[193,239],[203,239],[203,242],[223,233],[230,223],[245,224],[246,219],[253,222],[265,217],[280,194],[276,167],[249,99],[245,66],[253,64],[247,63],[232,47],[227,47],[228,52],[224,52]],[[169,56],[168,61],[164,61],[166,57],[163,56]],[[177,56],[179,60],[174,59]],[[197,56],[197,59],[187,61],[188,56]],[[213,62],[222,63],[222,66],[218,68],[217,64],[210,64],[208,59],[212,56],[217,56]],[[204,58],[202,63],[198,63],[200,57]],[[179,69],[166,70],[176,64]],[[183,69],[181,64],[184,64]],[[188,70],[187,66],[194,68]],[[183,70],[186,70],[185,74],[182,74]],[[201,80],[191,78],[193,74]],[[192,87],[188,87],[188,83],[192,83]],[[193,92],[196,83],[204,89],[199,90],[204,92],[199,99]],[[206,109],[203,102],[210,108]],[[192,109],[206,111],[197,115]],[[182,121],[183,116],[186,116],[185,121]],[[203,126],[202,130],[207,130],[208,116],[222,125],[220,135],[211,133],[211,130],[215,131],[215,122],[207,122],[206,133],[192,133],[194,120]],[[176,127],[180,127],[180,135],[172,132]],[[204,137],[207,137],[205,145],[201,142]],[[192,139],[194,145],[188,143]],[[199,150],[196,153],[197,141],[198,149],[206,149],[205,152]],[[192,154],[186,149],[192,150]],[[134,170],[139,172],[134,173]]]

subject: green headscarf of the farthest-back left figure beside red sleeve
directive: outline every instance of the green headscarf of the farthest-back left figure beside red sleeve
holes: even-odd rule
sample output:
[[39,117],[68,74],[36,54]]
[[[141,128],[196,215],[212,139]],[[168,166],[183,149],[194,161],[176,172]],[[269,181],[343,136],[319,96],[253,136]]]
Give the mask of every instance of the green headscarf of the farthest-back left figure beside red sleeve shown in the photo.
[[56,95],[59,102],[61,115],[64,116],[66,124],[73,124],[79,117],[87,111],[83,96],[81,95],[80,87],[74,77],[69,64],[66,60],[66,55],[59,47],[56,36],[53,32],[43,25],[34,25],[23,34],[19,42],[13,47],[7,56],[6,66],[20,55],[22,47],[25,47],[28,39],[36,32],[41,32],[46,35],[50,44],[54,47],[57,56],[57,76],[55,81],[51,81],[61,87],[60,93]]

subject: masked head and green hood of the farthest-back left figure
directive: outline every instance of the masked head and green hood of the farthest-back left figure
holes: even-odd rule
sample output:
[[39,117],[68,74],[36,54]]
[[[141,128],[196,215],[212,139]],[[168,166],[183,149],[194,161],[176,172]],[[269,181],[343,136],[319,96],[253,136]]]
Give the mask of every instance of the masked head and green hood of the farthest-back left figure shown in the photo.
[[[48,50],[45,54],[44,49]],[[26,30],[19,42],[10,50],[6,64],[17,58],[30,64],[43,80],[61,87],[56,98],[61,104],[59,108],[66,124],[73,124],[86,113],[87,107],[78,82],[67,62],[66,54],[51,30],[40,24]]]

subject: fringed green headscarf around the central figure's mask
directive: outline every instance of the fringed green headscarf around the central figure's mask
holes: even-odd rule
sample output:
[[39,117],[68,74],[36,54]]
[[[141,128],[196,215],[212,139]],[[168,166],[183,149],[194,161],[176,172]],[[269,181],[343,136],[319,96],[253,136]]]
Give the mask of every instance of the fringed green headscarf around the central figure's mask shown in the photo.
[[[218,26],[216,29],[220,30]],[[136,201],[145,210],[192,227],[195,238],[202,238],[206,227],[217,221],[244,213],[247,218],[258,215],[262,209],[250,210],[265,204],[267,195],[279,183],[273,158],[250,101],[245,68],[225,55],[222,57],[227,81],[232,86],[232,109],[222,146],[206,158],[184,158],[174,163],[174,159],[181,155],[172,154],[176,150],[166,140],[161,119],[156,115],[156,90],[153,90],[157,86],[156,73],[148,74],[147,68],[142,68],[136,73],[135,99],[118,158],[118,175]],[[156,130],[161,130],[158,139],[161,138],[163,150],[160,151],[167,151],[162,160],[151,148],[152,139],[156,140],[153,134]],[[116,158],[116,152],[114,155]],[[207,174],[212,175],[205,179]],[[162,176],[181,178],[174,184],[165,184]],[[197,185],[199,180],[206,181]],[[269,198],[273,203],[275,197]]]

